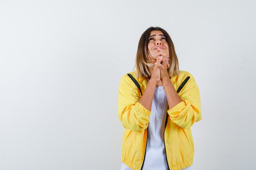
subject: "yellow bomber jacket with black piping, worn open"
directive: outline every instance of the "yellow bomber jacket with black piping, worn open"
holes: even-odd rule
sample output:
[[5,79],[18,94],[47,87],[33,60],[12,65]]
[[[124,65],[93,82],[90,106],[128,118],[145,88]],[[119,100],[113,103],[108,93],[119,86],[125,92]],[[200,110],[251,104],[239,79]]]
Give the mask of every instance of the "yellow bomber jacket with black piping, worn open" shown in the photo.
[[[130,74],[138,81],[143,94],[147,79],[138,78],[136,71]],[[171,77],[171,82],[177,91],[187,76],[190,79],[178,93],[183,101],[173,108],[166,106],[164,145],[170,170],[182,170],[193,164],[194,143],[190,127],[202,119],[200,93],[191,73],[181,70],[179,75]],[[118,94],[118,118],[125,128],[121,161],[132,170],[141,170],[150,111],[138,102],[141,93],[127,74],[121,77]]]

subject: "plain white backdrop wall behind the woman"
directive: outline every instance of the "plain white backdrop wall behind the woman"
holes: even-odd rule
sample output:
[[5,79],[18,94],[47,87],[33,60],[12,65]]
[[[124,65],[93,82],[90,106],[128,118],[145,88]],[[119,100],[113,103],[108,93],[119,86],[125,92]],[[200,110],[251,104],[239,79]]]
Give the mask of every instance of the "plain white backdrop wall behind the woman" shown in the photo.
[[0,170],[119,170],[121,76],[171,36],[200,89],[193,170],[256,160],[254,0],[0,1]]

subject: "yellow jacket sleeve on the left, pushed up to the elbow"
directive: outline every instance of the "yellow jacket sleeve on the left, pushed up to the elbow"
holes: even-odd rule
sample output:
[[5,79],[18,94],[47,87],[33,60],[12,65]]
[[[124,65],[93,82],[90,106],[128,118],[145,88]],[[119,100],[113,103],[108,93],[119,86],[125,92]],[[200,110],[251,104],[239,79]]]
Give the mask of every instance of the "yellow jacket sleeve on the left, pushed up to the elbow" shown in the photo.
[[118,94],[118,118],[123,127],[133,131],[146,129],[151,112],[138,102],[137,86],[128,75],[121,77]]

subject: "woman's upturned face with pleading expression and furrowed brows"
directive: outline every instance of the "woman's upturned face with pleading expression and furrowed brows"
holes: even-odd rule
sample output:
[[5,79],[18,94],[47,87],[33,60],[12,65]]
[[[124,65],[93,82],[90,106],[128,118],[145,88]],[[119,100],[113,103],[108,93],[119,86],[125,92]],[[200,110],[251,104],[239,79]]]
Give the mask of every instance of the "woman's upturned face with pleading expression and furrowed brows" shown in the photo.
[[148,38],[148,51],[150,57],[153,58],[154,61],[159,56],[159,50],[157,50],[157,47],[163,49],[166,55],[169,55],[169,46],[162,31],[151,31]]

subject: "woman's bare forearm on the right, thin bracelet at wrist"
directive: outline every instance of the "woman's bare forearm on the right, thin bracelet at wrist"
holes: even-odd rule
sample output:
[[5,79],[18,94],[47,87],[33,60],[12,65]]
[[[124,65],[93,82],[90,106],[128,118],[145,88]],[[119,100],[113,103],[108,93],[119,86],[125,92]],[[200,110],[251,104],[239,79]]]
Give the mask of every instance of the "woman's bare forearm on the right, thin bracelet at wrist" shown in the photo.
[[170,109],[183,101],[175,90],[173,83],[171,82],[171,79],[169,77],[163,77],[162,84],[163,86],[165,86],[164,92]]

